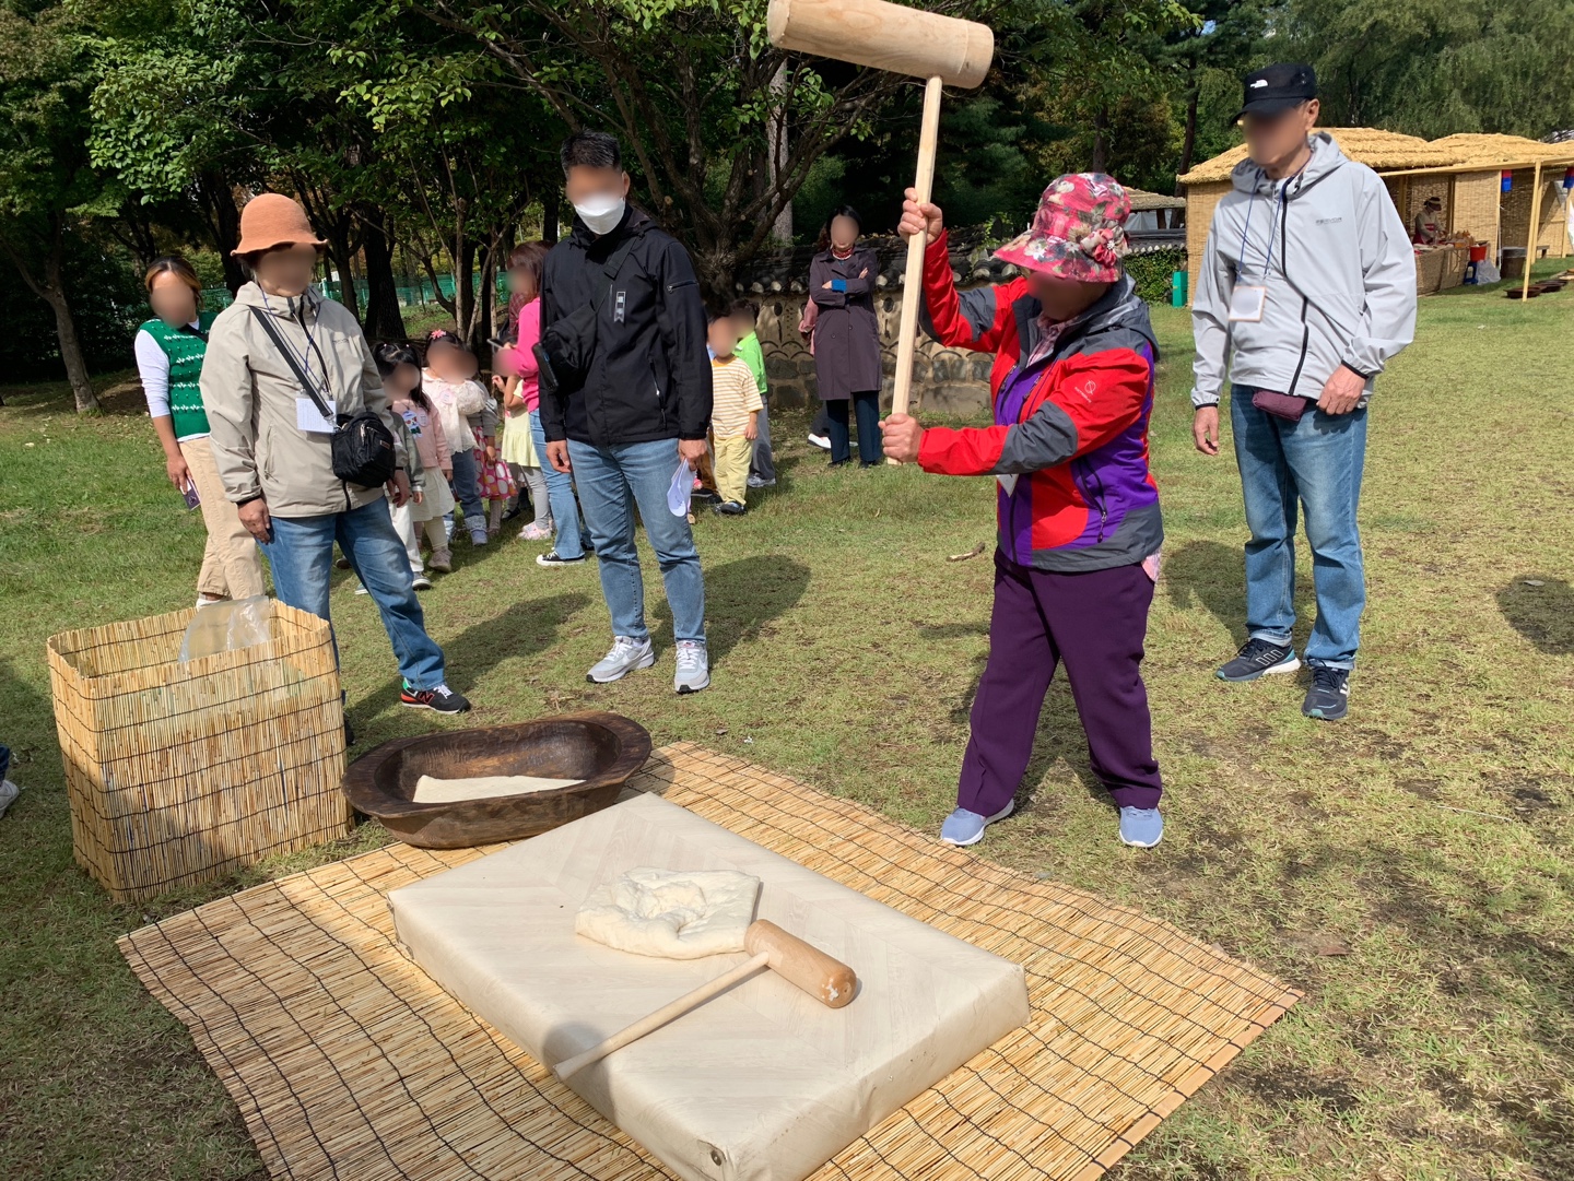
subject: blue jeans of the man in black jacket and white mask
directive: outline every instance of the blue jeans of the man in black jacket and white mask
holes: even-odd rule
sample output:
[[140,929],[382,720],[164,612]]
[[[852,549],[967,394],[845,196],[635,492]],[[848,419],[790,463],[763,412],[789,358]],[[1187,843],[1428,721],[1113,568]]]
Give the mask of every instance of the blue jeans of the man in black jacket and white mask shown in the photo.
[[688,517],[667,508],[667,489],[678,470],[678,440],[593,447],[568,443],[586,527],[601,565],[601,594],[612,615],[612,634],[650,638],[645,627],[645,583],[634,549],[634,510],[656,550],[661,580],[672,609],[672,638],[705,642],[705,580]]

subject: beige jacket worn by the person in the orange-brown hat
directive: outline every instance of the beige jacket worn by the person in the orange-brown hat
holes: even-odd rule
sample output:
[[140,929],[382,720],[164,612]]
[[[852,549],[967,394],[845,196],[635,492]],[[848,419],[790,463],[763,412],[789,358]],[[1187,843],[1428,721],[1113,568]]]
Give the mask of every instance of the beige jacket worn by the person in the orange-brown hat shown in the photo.
[[239,503],[261,494],[279,517],[316,517],[348,513],[378,500],[381,487],[357,487],[334,475],[331,436],[299,426],[302,398],[290,363],[257,322],[263,308],[280,335],[299,352],[312,330],[310,376],[327,370],[327,393],[337,414],[367,406],[387,425],[405,467],[405,442],[397,429],[382,379],[356,318],[342,304],[315,291],[301,299],[268,297],[257,283],[239,289],[235,304],[219,313],[208,337],[201,370],[201,401],[212,431],[212,458],[225,495]]

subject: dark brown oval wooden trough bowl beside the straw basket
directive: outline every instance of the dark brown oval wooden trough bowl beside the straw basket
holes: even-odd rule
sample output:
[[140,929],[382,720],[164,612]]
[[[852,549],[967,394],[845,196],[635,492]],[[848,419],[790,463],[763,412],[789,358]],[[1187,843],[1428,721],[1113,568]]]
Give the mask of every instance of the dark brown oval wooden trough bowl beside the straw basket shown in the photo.
[[[617,802],[650,758],[650,733],[622,714],[563,714],[508,727],[397,738],[357,758],[342,788],[349,804],[406,844],[464,849],[556,829]],[[414,804],[422,775],[578,778],[521,796]]]

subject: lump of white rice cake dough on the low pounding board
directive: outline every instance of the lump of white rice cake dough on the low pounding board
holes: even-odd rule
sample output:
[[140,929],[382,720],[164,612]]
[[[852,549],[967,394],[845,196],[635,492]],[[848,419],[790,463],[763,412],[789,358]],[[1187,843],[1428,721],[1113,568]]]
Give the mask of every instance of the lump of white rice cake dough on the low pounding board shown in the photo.
[[760,879],[735,870],[675,873],[644,865],[592,890],[575,931],[636,956],[741,951],[759,896]]

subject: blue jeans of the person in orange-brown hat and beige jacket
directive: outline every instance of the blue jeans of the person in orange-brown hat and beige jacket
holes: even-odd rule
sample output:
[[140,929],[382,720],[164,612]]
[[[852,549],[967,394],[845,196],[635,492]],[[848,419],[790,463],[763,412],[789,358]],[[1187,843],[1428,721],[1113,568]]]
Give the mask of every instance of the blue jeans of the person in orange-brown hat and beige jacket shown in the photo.
[[320,517],[274,517],[274,539],[263,544],[263,554],[274,571],[279,601],[329,618],[327,579],[334,572],[335,541],[382,613],[403,678],[412,689],[436,689],[442,684],[442,649],[427,635],[411,585],[409,555],[394,530],[387,500]]

